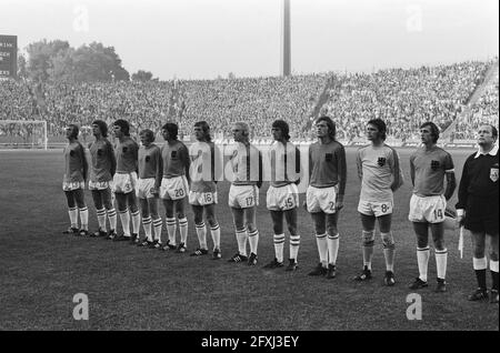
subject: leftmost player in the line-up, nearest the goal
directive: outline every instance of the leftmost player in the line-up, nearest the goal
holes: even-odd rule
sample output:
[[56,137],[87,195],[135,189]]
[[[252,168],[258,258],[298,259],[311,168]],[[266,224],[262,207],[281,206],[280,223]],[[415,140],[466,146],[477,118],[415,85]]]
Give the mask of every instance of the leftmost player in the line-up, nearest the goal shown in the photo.
[[[83,147],[78,141],[79,129],[76,124],[66,128],[68,145],[64,148],[64,176],[62,190],[68,201],[68,213],[71,226],[64,234],[88,235],[89,234],[89,210],[87,209],[83,190],[87,178],[87,160]],[[78,206],[78,209],[77,209]],[[78,211],[80,210],[81,229],[78,229]]]

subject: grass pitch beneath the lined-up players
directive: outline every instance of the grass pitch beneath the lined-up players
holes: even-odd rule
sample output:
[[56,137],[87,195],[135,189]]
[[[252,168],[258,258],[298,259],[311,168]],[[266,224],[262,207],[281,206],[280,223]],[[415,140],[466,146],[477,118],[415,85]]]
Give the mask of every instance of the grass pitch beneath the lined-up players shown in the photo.
[[[458,234],[447,232],[449,291],[432,292],[433,252],[429,289],[422,297],[422,320],[407,319],[407,295],[418,274],[416,240],[407,220],[411,195],[410,150],[400,150],[406,184],[396,193],[393,234],[397,244],[394,288],[382,285],[384,264],[379,235],[373,280],[354,283],[361,270],[361,229],[357,203],[360,182],[354,149],[348,149],[348,184],[339,220],[338,276],[310,278],[318,251],[310,215],[299,211],[300,269],[264,271],[273,259],[272,223],[266,210],[264,183],[258,209],[259,265],[230,264],[237,251],[227,205],[229,184],[219,185],[217,209],[222,260],[190,258],[198,245],[192,213],[188,212],[188,253],[139,249],[128,243],[61,234],[69,224],[61,190],[60,151],[0,152],[0,330],[499,330],[499,306],[471,303],[476,289],[471,241],[460,259]],[[453,151],[457,175],[470,151]],[[304,195],[301,195],[301,201]],[[87,191],[90,229],[97,218]],[[456,198],[451,200],[454,205]],[[119,226],[120,228],[120,226]],[[284,246],[288,256],[289,238]],[[166,239],[163,229],[162,238]],[[179,236],[179,234],[178,234]],[[210,232],[207,234],[211,248]],[[490,278],[488,274],[488,283]],[[89,297],[89,320],[76,321],[73,295]]]

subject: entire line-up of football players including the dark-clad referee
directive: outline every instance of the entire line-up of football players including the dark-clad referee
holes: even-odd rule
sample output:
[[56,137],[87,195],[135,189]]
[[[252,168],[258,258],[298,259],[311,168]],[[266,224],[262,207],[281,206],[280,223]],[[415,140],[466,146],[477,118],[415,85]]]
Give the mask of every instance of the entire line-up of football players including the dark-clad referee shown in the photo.
[[[346,152],[341,143],[336,141],[336,124],[328,117],[316,121],[318,141],[309,147],[309,186],[304,206],[311,214],[320,262],[309,275],[336,276],[336,262],[339,250],[339,232],[337,221],[339,211],[343,208],[346,190]],[[184,200],[189,199],[194,213],[194,224],[199,239],[199,249],[192,255],[208,254],[206,224],[203,212],[210,225],[213,240],[213,259],[221,259],[220,226],[216,218],[217,204],[216,178],[211,180],[189,180],[189,165],[194,163],[194,170],[202,168],[203,161],[214,160],[216,147],[211,142],[210,128],[207,122],[194,124],[196,143],[209,144],[210,150],[197,149],[202,153],[189,155],[187,147],[177,139],[178,127],[167,123],[162,127],[166,143],[159,148],[153,144],[154,134],[150,130],[140,133],[141,147],[130,138],[129,124],[117,120],[113,134],[118,139],[113,148],[107,140],[107,125],[103,121],[94,121],[92,133],[96,140],[89,144],[90,176],[89,189],[97,209],[99,231],[98,236],[108,236],[116,241],[129,240],[143,246],[159,248],[186,252],[188,220],[184,213]],[[383,243],[386,259],[384,283],[396,284],[393,259],[394,240],[391,232],[393,212],[393,192],[402,184],[399,157],[394,149],[384,144],[387,127],[380,119],[367,123],[367,138],[370,144],[359,149],[357,153],[358,174],[361,179],[361,193],[358,211],[361,216],[363,235],[363,270],[354,278],[356,281],[371,279],[371,259],[374,243],[374,226],[378,221]],[[254,175],[250,160],[261,160],[260,151],[249,142],[249,128],[244,122],[232,125],[233,139],[238,143],[231,155],[230,164],[234,174],[229,191],[229,205],[233,215],[238,252],[229,259],[230,262],[247,262],[256,265],[259,231],[256,223],[256,208],[259,203],[258,188],[261,179]],[[289,162],[287,151],[290,151],[289,128],[287,122],[277,120],[272,124],[274,144],[270,153],[272,169],[287,175]],[[451,155],[437,147],[439,129],[432,122],[420,127],[422,145],[410,158],[410,174],[413,194],[410,201],[409,220],[413,223],[417,235],[417,262],[419,276],[410,284],[418,290],[428,286],[427,268],[430,258],[428,232],[432,233],[436,248],[438,270],[437,292],[446,292],[446,271],[448,251],[444,245],[444,225],[447,223],[447,200],[456,189],[454,165]],[[83,200],[84,175],[87,162],[84,149],[78,142],[78,127],[67,129],[68,147],[64,149],[66,174],[63,190],[68,198],[71,228],[67,231],[80,235],[88,234],[88,210]],[[471,231],[474,243],[473,266],[479,288],[469,300],[483,300],[489,296],[486,289],[487,259],[484,255],[486,239],[490,240],[490,272],[492,275],[491,301],[498,302],[498,132],[494,127],[483,125],[479,131],[479,151],[466,162],[473,164],[464,168],[460,192],[458,219],[451,221],[464,224]],[[194,149],[196,149],[194,143]],[[284,145],[286,148],[282,148]],[[279,148],[281,147],[281,148]],[[193,147],[191,147],[193,148]],[[299,154],[299,151],[297,154]],[[484,157],[480,159],[479,157]],[[300,160],[300,158],[298,159]],[[478,161],[480,162],[478,164]],[[297,163],[297,160],[296,160]],[[474,164],[476,163],[476,164]],[[491,164],[491,165],[490,165]],[[479,165],[479,167],[478,167]],[[213,167],[213,165],[212,165]],[[491,168],[490,168],[491,167]],[[297,165],[296,165],[297,168]],[[484,176],[481,169],[490,168],[491,174]],[[494,172],[496,168],[496,172]],[[139,178],[137,175],[139,171]],[[214,170],[212,168],[211,170]],[[478,170],[478,171],[476,171]],[[472,173],[469,175],[468,173]],[[473,175],[478,173],[478,175]],[[259,172],[257,172],[259,174]],[[476,178],[478,176],[478,178]],[[447,188],[444,189],[444,179]],[[297,232],[297,209],[299,206],[298,180],[272,180],[267,193],[267,206],[273,222],[273,241],[276,258],[264,268],[278,269],[284,266],[283,218],[290,232],[290,256],[287,271],[298,269],[298,251],[300,235]],[[112,189],[112,190],[111,190]],[[111,201],[116,195],[123,234],[117,235],[117,212]],[[167,232],[169,239],[161,242],[162,220],[158,211],[158,199],[163,201],[167,215]],[[484,199],[486,198],[486,199]],[[471,201],[472,200],[472,201]],[[484,202],[488,201],[488,202]],[[139,206],[140,210],[139,211]],[[78,229],[78,209],[80,210],[81,229]],[[130,232],[130,215],[132,233]],[[477,210],[481,210],[480,213]],[[497,210],[497,211],[496,211]],[[141,214],[142,213],[142,214]],[[468,214],[468,218],[464,218]],[[106,232],[106,216],[110,222],[110,232]],[[146,240],[139,240],[141,223]],[[180,243],[176,243],[177,220],[179,221]],[[448,220],[450,221],[450,220]],[[152,230],[154,234],[152,234]],[[250,254],[247,252],[250,244]]]

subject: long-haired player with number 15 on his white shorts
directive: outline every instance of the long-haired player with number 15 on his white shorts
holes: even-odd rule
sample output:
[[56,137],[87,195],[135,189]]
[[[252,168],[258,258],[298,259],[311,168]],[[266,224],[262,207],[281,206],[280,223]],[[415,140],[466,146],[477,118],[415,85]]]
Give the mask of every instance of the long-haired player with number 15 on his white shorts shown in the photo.
[[271,130],[274,144],[271,147],[271,183],[267,194],[267,206],[271,213],[274,231],[276,258],[264,269],[283,266],[283,215],[290,231],[290,258],[286,271],[298,269],[300,235],[297,232],[297,208],[299,206],[300,151],[290,142],[289,125],[283,120],[276,120]]

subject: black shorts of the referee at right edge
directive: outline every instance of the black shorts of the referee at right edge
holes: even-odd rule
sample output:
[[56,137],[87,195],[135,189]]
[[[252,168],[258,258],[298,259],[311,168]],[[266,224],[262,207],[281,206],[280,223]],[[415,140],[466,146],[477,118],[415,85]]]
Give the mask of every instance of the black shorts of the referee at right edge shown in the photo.
[[498,198],[479,198],[469,194],[463,226],[474,233],[498,236]]

